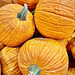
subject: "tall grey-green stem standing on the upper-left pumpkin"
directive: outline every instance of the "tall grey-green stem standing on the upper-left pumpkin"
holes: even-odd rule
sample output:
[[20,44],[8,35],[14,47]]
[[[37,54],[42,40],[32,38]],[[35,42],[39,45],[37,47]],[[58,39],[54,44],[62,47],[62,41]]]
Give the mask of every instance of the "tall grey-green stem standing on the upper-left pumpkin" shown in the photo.
[[22,11],[20,13],[17,13],[17,18],[19,18],[20,21],[26,20],[27,11],[28,11],[27,4],[24,4],[24,8],[22,9]]

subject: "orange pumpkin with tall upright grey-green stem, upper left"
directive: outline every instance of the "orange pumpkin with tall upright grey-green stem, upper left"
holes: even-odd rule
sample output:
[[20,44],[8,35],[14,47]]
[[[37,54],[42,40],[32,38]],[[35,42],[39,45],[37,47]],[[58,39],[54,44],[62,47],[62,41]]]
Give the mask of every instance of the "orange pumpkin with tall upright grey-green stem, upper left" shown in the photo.
[[33,36],[33,16],[27,5],[8,4],[0,8],[0,42],[19,46]]

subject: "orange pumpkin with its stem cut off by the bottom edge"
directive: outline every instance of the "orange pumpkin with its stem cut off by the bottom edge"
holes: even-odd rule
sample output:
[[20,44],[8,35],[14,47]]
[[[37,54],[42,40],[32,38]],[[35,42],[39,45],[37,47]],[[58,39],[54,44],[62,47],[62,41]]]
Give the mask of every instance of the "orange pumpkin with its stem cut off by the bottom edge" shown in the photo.
[[18,54],[19,68],[23,75],[64,75],[68,69],[65,49],[53,39],[28,40]]

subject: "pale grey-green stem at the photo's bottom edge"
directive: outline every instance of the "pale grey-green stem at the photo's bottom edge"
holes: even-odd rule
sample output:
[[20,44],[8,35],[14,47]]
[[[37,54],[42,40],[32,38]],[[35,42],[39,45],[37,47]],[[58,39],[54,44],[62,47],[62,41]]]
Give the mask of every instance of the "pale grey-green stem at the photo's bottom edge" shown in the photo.
[[28,67],[30,74],[28,75],[40,75],[41,69],[36,65],[31,65],[31,67]]

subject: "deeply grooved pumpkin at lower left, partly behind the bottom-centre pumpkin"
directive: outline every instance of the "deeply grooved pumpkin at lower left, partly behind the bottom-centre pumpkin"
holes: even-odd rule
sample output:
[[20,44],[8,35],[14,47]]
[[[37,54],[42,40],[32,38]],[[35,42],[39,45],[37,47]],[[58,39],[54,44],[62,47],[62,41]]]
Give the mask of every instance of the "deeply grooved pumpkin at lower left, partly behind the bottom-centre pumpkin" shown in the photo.
[[1,50],[3,75],[21,75],[18,67],[18,52],[20,48],[5,47]]

